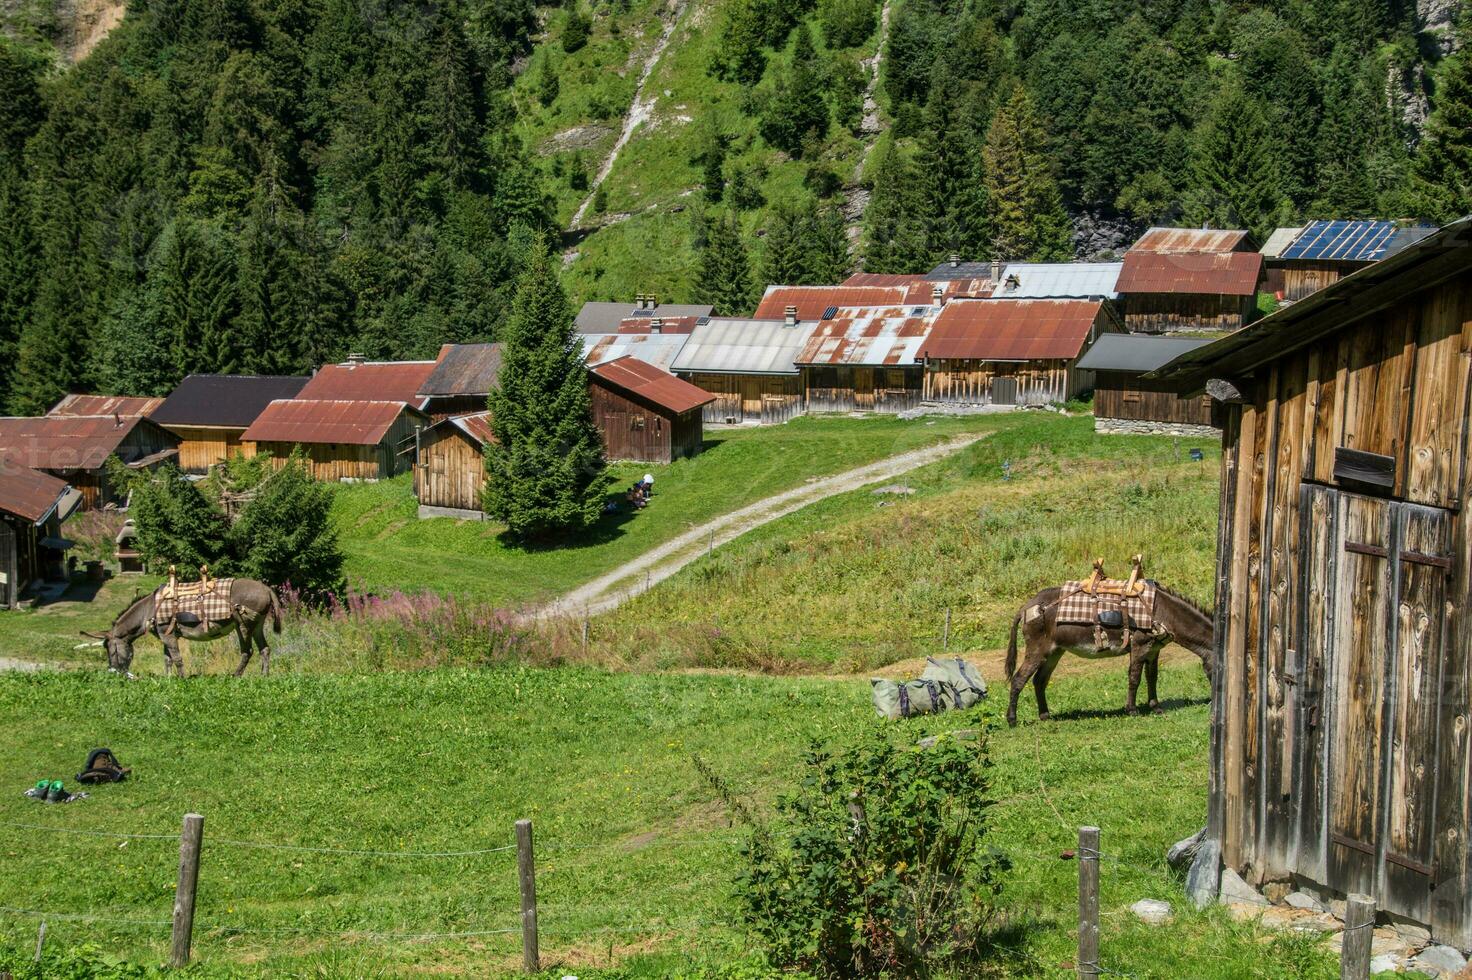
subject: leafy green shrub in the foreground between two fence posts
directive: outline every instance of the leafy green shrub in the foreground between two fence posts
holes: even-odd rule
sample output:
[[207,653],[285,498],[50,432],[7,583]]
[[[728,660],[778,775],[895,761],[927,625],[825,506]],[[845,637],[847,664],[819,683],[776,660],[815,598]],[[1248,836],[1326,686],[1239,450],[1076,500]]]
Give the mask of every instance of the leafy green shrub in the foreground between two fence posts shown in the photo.
[[874,733],[838,755],[813,746],[805,767],[779,827],[735,805],[754,827],[736,893],[771,964],[874,977],[974,959],[1007,867],[983,853],[985,740],[920,749]]

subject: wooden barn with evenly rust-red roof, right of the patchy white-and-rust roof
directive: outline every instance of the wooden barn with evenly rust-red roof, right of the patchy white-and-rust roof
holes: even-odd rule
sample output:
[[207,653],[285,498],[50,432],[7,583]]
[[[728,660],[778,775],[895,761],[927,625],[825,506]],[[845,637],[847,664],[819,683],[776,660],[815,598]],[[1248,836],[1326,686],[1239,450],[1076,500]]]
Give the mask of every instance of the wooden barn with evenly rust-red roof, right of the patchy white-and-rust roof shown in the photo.
[[1116,330],[1119,321],[1103,300],[952,300],[920,346],[921,397],[951,405],[1067,402],[1094,383],[1079,369],[1079,356]]

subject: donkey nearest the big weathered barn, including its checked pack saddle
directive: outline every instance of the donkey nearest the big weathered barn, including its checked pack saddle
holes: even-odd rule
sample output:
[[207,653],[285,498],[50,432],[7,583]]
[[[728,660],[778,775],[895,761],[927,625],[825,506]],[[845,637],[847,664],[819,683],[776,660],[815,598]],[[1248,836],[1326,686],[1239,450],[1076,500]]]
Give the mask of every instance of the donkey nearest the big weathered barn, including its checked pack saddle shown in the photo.
[[[1156,680],[1160,675],[1160,650],[1179,643],[1201,658],[1211,675],[1211,614],[1164,586],[1145,578],[1144,561],[1135,555],[1128,581],[1104,577],[1104,559],[1094,562],[1094,572],[1083,581],[1069,581],[1044,589],[1013,618],[1007,643],[1010,681],[1007,724],[1017,724],[1017,696],[1032,681],[1038,699],[1038,718],[1048,720],[1048,678],[1064,652],[1086,658],[1129,656],[1129,699],[1125,711],[1139,714],[1135,695],[1144,672],[1150,687],[1150,709],[1160,714]],[[1026,655],[1017,665],[1017,631],[1022,630]]]

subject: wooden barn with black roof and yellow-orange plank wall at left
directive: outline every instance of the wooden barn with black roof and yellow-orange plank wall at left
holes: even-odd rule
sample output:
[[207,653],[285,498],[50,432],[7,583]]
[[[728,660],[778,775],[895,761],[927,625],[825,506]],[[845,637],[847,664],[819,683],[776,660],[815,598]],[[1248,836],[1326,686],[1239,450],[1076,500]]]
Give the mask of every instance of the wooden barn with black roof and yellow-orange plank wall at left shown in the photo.
[[246,430],[277,399],[290,399],[306,378],[247,374],[191,374],[153,409],[152,421],[180,438],[178,465],[203,474],[233,455],[255,455]]

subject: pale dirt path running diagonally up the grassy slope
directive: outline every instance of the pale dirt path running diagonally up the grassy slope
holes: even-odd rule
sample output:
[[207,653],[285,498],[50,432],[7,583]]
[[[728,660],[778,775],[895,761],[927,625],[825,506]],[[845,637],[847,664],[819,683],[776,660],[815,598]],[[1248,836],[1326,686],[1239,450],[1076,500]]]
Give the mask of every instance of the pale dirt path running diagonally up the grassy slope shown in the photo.
[[[972,443],[985,438],[988,434],[989,433],[966,436],[938,446],[929,446],[926,449],[899,453],[898,456],[889,456],[888,459],[880,459],[879,462],[873,462],[857,469],[813,480],[801,487],[793,487],[792,490],[767,497],[765,500],[758,500],[757,503],[745,506],[739,511],[732,511],[730,514],[718,516],[708,524],[690,528],[684,534],[665,542],[659,547],[645,552],[634,561],[620,565],[606,575],[599,575],[593,581],[574,589],[531,615],[567,617],[606,612],[608,609],[623,603],[626,599],[664,581],[717,544],[724,544],[755,527],[761,527],[762,524],[776,521],[780,516],[801,511],[810,503],[815,503],[849,490],[858,490],[860,487],[871,483],[892,480],[904,472],[924,466],[926,464],[945,459],[951,453],[966,449]],[[615,589],[620,584],[624,587]]]

